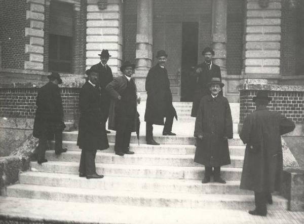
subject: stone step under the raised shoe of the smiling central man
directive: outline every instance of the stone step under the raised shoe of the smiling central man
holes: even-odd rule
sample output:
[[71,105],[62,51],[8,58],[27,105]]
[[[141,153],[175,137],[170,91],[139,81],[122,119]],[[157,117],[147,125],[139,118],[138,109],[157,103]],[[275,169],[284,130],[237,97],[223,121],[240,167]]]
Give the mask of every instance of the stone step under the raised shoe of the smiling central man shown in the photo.
[[[63,132],[63,140],[65,141],[77,141],[78,131]],[[115,132],[111,131],[110,134],[107,134],[109,142],[115,142]],[[196,142],[195,137],[186,136],[186,135],[176,135],[176,136],[163,136],[163,135],[154,135],[154,140],[161,144],[192,144]],[[229,145],[244,145],[241,141],[238,134],[234,134],[233,139],[228,140]],[[135,132],[132,133],[130,143],[138,143]],[[139,143],[145,144],[145,136],[139,136]]]

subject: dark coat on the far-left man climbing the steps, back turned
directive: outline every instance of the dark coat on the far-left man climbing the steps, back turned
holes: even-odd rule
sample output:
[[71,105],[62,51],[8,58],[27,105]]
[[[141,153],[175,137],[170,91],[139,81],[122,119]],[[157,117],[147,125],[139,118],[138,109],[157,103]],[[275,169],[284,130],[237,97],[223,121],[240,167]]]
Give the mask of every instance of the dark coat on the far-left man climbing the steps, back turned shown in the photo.
[[[56,129],[65,128],[63,123],[63,107],[58,85],[49,82],[38,90],[36,98],[36,115],[33,136],[40,138],[43,130],[52,136]],[[51,138],[51,137],[50,137]]]

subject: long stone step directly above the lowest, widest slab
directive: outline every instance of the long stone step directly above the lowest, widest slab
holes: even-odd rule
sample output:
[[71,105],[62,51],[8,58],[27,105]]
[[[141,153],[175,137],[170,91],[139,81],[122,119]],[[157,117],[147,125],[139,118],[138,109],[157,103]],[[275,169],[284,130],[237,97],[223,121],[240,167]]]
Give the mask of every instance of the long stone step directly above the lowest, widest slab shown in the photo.
[[[96,182],[96,180],[88,180]],[[98,181],[98,180],[97,180]],[[64,188],[59,186],[43,186],[15,184],[7,187],[8,197],[69,201],[108,203],[130,206],[183,207],[183,208],[215,208],[250,209],[254,206],[252,195],[221,194],[189,194],[159,193],[139,191],[115,191],[100,189]],[[274,204],[270,210],[287,209],[287,200],[274,196]]]

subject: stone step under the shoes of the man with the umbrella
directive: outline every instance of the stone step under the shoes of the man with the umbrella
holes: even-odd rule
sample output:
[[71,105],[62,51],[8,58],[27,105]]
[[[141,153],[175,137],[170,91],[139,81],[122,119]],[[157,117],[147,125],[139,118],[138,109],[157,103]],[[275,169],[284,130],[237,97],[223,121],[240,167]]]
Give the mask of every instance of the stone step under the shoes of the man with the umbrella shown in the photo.
[[[54,151],[46,152],[46,159],[50,161],[62,161],[62,162],[79,162],[81,152],[68,151],[61,155],[56,155]],[[231,156],[231,164],[226,167],[243,167],[243,159],[241,156]],[[125,155],[123,157],[111,154],[97,152],[96,163],[106,164],[136,164],[136,165],[148,165],[148,166],[180,166],[180,167],[192,167],[202,166],[201,164],[194,162],[194,155],[169,155],[169,154],[133,154]]]

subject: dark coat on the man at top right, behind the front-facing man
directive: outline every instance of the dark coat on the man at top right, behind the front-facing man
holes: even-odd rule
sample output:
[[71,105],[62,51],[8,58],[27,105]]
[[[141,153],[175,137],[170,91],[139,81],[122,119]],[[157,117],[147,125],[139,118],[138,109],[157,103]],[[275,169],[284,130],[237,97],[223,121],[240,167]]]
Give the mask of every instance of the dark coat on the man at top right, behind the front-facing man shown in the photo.
[[[211,70],[209,70],[209,65],[204,62],[202,64],[199,64],[195,68],[195,70],[197,68],[202,68],[202,72],[195,73],[195,75],[198,77],[198,81],[196,83],[195,93],[193,97],[191,117],[197,116],[198,108],[202,97],[207,94],[211,94],[209,89],[207,88],[207,84],[210,83],[211,79],[219,78],[221,81],[220,67],[218,65],[212,63]],[[220,94],[222,95],[222,91],[220,92]]]

